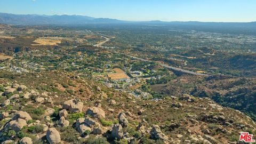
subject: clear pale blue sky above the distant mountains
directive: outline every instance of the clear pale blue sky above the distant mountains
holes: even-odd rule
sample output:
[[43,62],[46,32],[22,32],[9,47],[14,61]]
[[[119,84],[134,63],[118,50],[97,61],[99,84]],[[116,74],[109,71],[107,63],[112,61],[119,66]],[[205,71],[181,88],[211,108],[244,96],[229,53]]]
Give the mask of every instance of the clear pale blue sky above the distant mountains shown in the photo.
[[256,21],[256,0],[0,0],[0,12],[148,21]]

